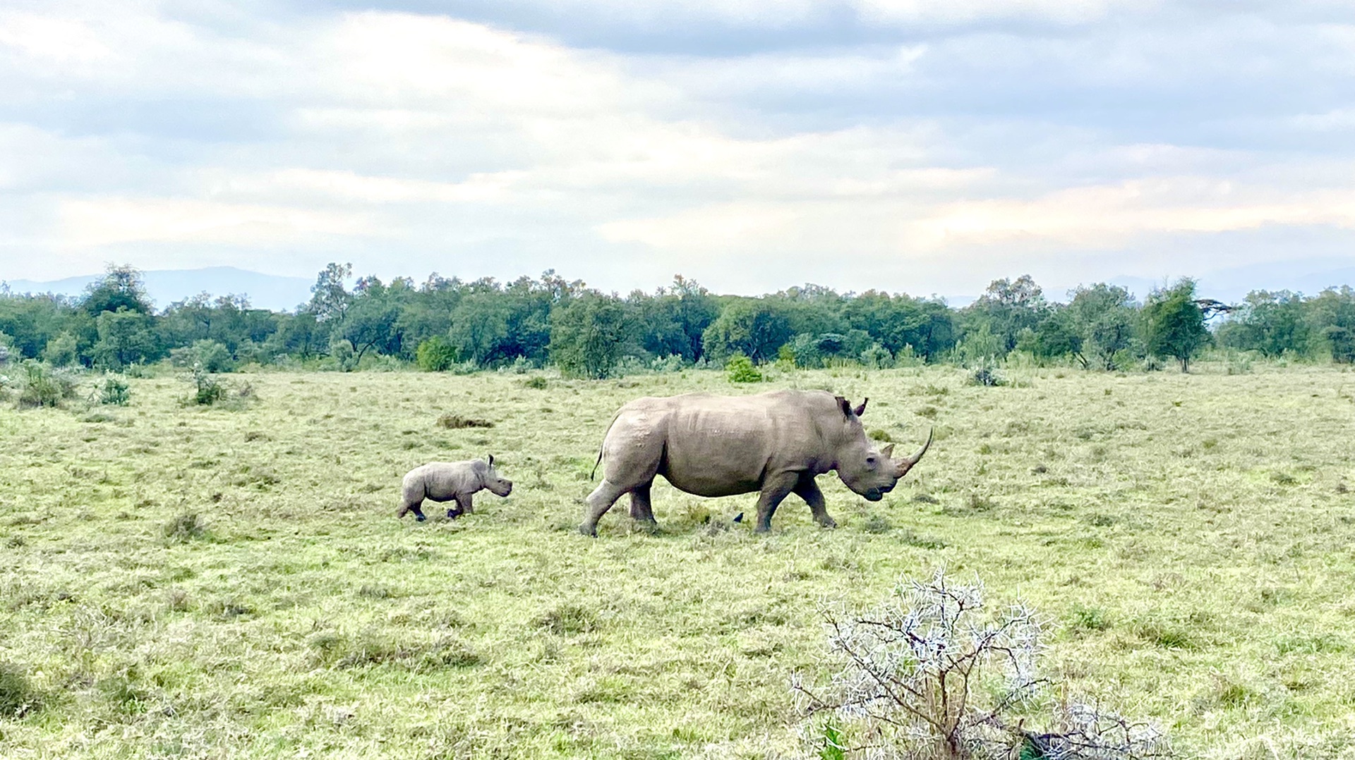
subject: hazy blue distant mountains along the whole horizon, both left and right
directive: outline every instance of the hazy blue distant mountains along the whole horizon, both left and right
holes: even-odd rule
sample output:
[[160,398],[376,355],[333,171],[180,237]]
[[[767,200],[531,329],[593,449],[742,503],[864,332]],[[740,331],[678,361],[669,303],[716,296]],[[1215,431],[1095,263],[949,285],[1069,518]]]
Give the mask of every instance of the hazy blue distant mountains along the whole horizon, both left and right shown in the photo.
[[[310,299],[310,286],[314,283],[306,278],[266,275],[236,267],[153,270],[142,272],[142,275],[146,282],[146,293],[161,309],[175,301],[183,301],[199,293],[210,293],[211,295],[248,295],[249,303],[259,309],[291,310]],[[79,295],[85,286],[100,276],[103,275],[83,275],[51,282],[19,279],[9,280],[8,286],[14,293]],[[1355,286],[1355,256],[1344,260],[1314,259],[1217,270],[1199,275],[1196,280],[1201,297],[1230,303],[1241,301],[1252,290],[1293,290],[1314,295],[1332,286]],[[1154,287],[1161,287],[1167,280],[1117,276],[1110,278],[1108,282],[1127,289],[1142,301]],[[1072,286],[1046,286],[1045,297],[1051,301],[1064,301],[1069,287]],[[946,301],[953,308],[961,308],[972,303],[974,298],[973,294],[951,295]]]

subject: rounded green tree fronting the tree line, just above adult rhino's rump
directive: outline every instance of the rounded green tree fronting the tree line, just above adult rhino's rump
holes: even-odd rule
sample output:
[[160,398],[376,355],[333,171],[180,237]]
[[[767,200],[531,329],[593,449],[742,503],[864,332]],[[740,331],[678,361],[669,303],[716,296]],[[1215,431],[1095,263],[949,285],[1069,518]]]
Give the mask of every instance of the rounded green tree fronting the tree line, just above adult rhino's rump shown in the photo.
[[625,336],[621,301],[584,293],[551,314],[550,359],[568,375],[604,378],[621,359]]

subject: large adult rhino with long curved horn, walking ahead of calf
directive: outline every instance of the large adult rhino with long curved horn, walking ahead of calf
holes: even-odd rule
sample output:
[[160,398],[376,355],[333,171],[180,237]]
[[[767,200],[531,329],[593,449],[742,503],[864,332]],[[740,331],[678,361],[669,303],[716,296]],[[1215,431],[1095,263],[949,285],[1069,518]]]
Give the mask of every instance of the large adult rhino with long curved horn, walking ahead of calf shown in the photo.
[[687,394],[638,398],[617,412],[603,440],[603,481],[588,496],[579,531],[598,535],[598,520],[630,494],[630,516],[656,524],[649,490],[663,476],[696,496],[759,492],[759,532],[794,493],[824,527],[836,527],[814,477],[836,470],[847,488],[879,501],[931,444],[893,459],[893,444],[877,450],[851,404],[822,390],[775,390],[759,396]]

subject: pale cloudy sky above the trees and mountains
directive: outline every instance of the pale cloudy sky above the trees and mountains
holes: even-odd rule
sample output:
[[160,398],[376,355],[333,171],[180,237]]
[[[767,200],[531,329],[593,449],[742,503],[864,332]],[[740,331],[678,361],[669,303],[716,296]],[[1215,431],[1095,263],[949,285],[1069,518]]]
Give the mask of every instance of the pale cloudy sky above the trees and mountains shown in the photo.
[[1346,0],[0,0],[0,279],[1355,264]]

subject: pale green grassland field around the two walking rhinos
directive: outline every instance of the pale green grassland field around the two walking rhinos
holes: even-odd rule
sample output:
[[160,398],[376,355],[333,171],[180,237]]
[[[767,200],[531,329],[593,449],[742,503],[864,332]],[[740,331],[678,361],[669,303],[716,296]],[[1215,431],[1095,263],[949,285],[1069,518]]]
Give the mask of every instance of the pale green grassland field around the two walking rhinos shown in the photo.
[[[820,604],[940,565],[1038,608],[1049,672],[1184,757],[1355,757],[1355,373],[1014,377],[262,373],[220,408],[165,370],[127,406],[7,404],[0,700],[31,704],[0,757],[797,756]],[[936,443],[878,504],[821,477],[837,530],[790,497],[755,535],[755,496],[660,480],[660,534],[625,500],[576,532],[621,404],[771,387]],[[408,469],[489,452],[512,496],[394,518]]]

